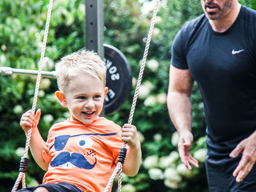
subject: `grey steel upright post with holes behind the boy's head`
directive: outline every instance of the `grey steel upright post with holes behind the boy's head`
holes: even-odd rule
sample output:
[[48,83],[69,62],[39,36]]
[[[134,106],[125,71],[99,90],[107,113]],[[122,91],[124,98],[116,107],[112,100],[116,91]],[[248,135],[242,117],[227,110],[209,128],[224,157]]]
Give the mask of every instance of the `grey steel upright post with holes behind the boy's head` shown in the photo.
[[[104,60],[103,0],[85,0],[85,47]],[[100,116],[105,116],[104,107]]]

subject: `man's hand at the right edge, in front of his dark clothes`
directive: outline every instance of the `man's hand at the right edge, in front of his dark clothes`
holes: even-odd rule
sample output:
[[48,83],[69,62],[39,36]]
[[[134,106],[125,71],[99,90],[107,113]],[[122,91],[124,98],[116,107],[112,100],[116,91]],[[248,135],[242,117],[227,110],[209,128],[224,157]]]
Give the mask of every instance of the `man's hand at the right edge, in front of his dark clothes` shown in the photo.
[[229,154],[231,158],[234,158],[242,153],[242,158],[233,172],[233,176],[236,177],[236,182],[242,181],[245,176],[251,171],[252,166],[256,160],[256,138],[252,134],[250,137],[242,140],[236,148]]

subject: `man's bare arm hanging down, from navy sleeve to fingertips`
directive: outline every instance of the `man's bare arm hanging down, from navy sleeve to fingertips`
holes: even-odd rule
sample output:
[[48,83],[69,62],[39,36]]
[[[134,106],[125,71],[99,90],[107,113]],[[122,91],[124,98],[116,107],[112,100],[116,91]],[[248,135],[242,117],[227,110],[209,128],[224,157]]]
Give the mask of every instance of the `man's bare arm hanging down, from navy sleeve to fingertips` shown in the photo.
[[193,135],[191,133],[192,106],[190,95],[194,79],[188,69],[170,66],[167,107],[170,118],[179,132],[178,150],[180,159],[191,170],[191,165],[198,167],[198,161],[189,154]]

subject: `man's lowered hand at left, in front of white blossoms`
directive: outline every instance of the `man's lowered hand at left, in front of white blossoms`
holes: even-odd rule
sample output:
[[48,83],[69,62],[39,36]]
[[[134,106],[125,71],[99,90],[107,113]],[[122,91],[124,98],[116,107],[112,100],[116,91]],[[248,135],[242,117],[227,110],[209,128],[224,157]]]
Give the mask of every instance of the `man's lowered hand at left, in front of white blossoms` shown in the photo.
[[182,163],[191,170],[190,164],[198,167],[198,161],[189,154],[191,144],[193,142],[193,135],[190,131],[183,131],[179,133],[178,150]]

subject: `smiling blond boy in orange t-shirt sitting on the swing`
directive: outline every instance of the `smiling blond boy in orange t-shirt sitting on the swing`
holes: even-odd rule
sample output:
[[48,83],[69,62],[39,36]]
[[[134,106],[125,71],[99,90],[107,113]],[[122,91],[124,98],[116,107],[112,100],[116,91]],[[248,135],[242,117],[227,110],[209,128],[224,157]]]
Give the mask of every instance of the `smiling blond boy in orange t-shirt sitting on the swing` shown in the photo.
[[43,184],[19,191],[104,191],[124,141],[128,146],[123,172],[136,175],[141,161],[136,127],[124,124],[122,129],[99,117],[108,92],[103,60],[94,52],[81,50],[63,57],[55,69],[59,87],[55,94],[60,104],[68,107],[70,118],[54,124],[45,142],[37,128],[41,110],[36,115],[31,110],[22,115],[20,126],[25,133],[32,127],[31,153],[47,172]]

